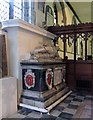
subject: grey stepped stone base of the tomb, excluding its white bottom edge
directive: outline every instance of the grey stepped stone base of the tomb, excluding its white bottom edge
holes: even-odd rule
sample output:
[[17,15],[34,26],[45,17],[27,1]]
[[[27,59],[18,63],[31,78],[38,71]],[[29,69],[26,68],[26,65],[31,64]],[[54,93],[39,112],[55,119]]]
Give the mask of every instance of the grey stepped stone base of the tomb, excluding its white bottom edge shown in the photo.
[[21,98],[21,103],[46,109],[69,91],[70,90],[65,83],[57,85],[55,88],[41,93],[31,91],[31,94],[25,90]]

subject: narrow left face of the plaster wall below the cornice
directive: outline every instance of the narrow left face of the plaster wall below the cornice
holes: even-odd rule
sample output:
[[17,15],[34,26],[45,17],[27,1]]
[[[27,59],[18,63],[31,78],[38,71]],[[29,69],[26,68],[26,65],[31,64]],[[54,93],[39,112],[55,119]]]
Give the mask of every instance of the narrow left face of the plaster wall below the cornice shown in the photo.
[[6,30],[9,75],[18,76],[18,29],[15,27],[12,29],[7,28]]

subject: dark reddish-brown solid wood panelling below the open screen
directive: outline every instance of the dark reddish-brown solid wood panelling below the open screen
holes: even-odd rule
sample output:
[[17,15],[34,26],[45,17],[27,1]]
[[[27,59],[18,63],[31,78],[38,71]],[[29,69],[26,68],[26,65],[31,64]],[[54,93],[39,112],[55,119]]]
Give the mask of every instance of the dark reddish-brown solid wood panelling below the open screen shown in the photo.
[[72,90],[80,89],[93,94],[93,62],[87,61],[67,61],[66,81]]

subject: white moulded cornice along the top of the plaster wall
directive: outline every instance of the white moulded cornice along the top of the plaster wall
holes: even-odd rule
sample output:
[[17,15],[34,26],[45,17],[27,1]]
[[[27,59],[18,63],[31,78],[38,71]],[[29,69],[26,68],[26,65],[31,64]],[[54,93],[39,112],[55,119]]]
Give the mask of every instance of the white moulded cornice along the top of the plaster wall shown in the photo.
[[2,22],[2,29],[7,30],[7,28],[12,28],[12,27],[19,27],[26,31],[30,31],[50,39],[54,39],[56,37],[56,35],[44,30],[43,28],[29,24],[21,19],[10,19]]

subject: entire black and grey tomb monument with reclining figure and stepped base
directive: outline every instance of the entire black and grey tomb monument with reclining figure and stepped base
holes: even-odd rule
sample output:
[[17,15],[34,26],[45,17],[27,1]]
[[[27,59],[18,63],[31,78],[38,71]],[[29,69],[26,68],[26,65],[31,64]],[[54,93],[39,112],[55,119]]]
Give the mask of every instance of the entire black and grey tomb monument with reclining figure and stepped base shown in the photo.
[[58,55],[59,48],[40,43],[21,61],[22,86],[20,106],[49,112],[71,91],[65,83],[66,64]]

